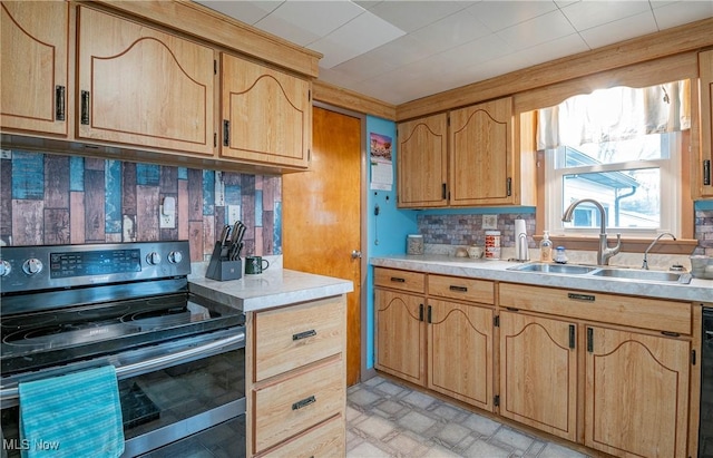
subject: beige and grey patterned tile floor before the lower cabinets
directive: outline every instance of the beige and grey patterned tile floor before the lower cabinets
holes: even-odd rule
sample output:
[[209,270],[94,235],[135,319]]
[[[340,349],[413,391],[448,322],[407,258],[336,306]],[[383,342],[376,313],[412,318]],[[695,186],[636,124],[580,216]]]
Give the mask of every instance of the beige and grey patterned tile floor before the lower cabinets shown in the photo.
[[390,379],[349,388],[346,458],[585,458]]

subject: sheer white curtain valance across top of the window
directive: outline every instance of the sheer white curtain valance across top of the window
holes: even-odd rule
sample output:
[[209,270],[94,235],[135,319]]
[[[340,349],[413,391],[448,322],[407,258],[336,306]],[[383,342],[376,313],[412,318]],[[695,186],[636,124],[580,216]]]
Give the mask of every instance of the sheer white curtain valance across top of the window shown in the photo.
[[686,79],[574,96],[539,109],[537,125],[538,149],[685,130],[691,128],[691,84]]

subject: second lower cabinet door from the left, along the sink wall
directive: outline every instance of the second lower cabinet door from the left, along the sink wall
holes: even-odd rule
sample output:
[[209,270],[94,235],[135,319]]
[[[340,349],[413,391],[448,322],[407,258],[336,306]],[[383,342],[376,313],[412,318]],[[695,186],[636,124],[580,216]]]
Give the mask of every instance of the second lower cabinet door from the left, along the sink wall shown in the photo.
[[430,300],[428,388],[492,411],[492,310]]

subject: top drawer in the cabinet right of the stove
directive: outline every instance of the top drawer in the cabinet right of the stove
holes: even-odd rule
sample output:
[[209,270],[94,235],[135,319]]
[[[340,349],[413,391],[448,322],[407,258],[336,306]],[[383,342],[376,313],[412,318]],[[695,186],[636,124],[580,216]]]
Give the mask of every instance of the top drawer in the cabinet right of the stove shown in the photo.
[[344,351],[343,298],[330,298],[255,313],[255,380]]

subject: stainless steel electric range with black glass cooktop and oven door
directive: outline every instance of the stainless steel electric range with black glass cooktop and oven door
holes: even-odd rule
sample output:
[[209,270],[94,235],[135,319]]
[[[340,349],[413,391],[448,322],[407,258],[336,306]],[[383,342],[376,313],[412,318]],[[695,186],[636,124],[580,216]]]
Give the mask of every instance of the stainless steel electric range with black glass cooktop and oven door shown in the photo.
[[245,455],[244,314],[188,291],[187,242],[0,256],[3,456],[20,455],[18,383],[105,364],[119,381],[124,456],[183,445]]

